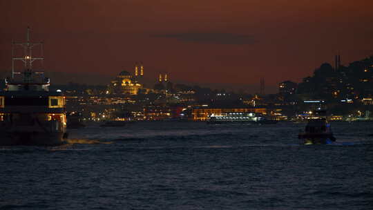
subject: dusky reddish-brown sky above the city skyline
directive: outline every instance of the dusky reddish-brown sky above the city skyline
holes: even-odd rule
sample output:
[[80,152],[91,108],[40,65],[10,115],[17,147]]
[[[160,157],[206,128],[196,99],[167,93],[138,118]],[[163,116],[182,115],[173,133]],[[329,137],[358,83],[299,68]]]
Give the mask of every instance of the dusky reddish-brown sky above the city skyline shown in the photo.
[[169,72],[173,82],[257,91],[264,77],[274,92],[337,52],[343,65],[373,55],[368,0],[0,0],[0,15],[1,75],[27,26],[46,43],[46,70],[85,83],[106,84],[142,61],[152,81]]

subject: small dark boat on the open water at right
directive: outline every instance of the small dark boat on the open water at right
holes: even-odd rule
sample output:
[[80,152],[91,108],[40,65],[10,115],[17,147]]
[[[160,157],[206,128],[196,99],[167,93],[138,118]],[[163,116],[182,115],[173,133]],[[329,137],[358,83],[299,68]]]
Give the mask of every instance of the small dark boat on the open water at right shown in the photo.
[[314,115],[307,118],[305,131],[298,134],[301,144],[332,144],[336,141],[332,127],[327,121],[326,111],[318,109]]

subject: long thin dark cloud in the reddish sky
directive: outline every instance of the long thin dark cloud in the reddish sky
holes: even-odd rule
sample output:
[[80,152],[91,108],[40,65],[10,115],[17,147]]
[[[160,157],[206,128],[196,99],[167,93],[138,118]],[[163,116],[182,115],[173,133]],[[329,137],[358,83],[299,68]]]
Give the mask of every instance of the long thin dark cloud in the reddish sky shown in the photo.
[[191,32],[154,35],[153,37],[173,38],[180,41],[198,42],[203,44],[254,44],[256,40],[252,35],[237,35],[218,32]]

